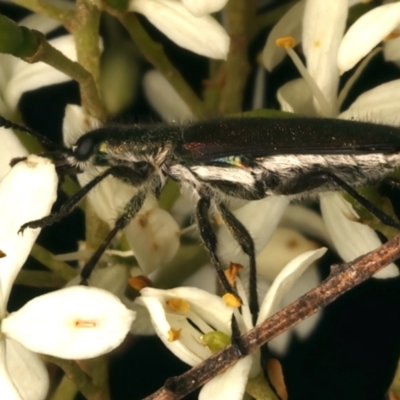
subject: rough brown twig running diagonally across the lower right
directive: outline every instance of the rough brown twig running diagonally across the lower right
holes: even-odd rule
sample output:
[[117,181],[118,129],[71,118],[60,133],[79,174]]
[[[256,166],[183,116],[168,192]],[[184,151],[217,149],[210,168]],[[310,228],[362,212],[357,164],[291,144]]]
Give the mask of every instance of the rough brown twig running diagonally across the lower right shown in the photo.
[[[245,350],[246,354],[255,352],[265,343],[315,314],[398,258],[400,258],[400,235],[351,263],[332,266],[331,274],[318,287],[243,335],[241,349]],[[161,389],[145,400],[180,399],[227,370],[242,357],[234,346],[228,346],[190,371],[169,378]]]

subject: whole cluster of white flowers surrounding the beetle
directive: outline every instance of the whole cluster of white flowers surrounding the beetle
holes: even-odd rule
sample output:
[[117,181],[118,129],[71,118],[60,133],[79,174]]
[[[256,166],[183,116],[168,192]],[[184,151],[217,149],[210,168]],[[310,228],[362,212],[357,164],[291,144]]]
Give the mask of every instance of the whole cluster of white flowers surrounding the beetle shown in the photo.
[[[270,32],[263,50],[263,66],[271,71],[288,54],[299,70],[301,78],[284,84],[278,91],[283,111],[398,124],[400,103],[394,93],[400,88],[400,80],[364,92],[347,110],[339,111],[351,85],[378,51],[374,50],[375,46],[387,39],[400,21],[400,3],[394,2],[365,13],[345,33],[348,10],[353,3],[356,2],[301,0],[296,3]],[[221,25],[211,16],[223,10],[227,0],[130,0],[127,4],[128,11],[143,14],[178,46],[214,60],[228,58],[231,38],[223,26],[227,25]],[[222,13],[218,16],[225,22]],[[59,25],[42,16],[30,17],[21,23],[45,34]],[[386,60],[400,62],[398,41],[399,38],[394,38],[384,43]],[[71,35],[49,43],[70,60],[77,60]],[[295,44],[302,46],[306,65],[294,52]],[[352,69],[364,57],[339,92],[340,74]],[[0,59],[0,115],[10,119],[16,117],[24,91],[69,79],[45,63],[30,66],[4,54],[0,54]],[[167,122],[195,119],[192,108],[166,79],[168,74],[173,75],[156,70],[145,74],[143,87],[149,103]],[[260,86],[256,91],[257,95],[264,95],[260,93]],[[68,105],[63,121],[65,146],[73,147],[79,136],[102,125],[84,107]],[[50,213],[58,180],[55,167],[48,159],[27,156],[26,149],[9,129],[0,128],[0,134],[0,386],[5,398],[46,397],[49,380],[38,353],[65,359],[91,358],[117,347],[128,331],[156,333],[177,357],[194,366],[230,343],[233,317],[242,333],[252,329],[247,300],[249,257],[233,240],[232,232],[221,222],[216,208],[212,209],[217,226],[216,252],[224,265],[235,262],[243,266],[235,280],[242,306],[240,309],[229,307],[218,295],[215,272],[208,263],[178,283],[171,278],[182,273],[185,250],[198,249],[197,244],[190,247],[180,243],[184,234],[188,241],[193,238],[198,241],[197,232],[192,233],[190,227],[184,229],[181,223],[194,218],[193,195],[186,192],[176,196],[168,208],[171,212],[166,211],[167,207],[160,207],[153,195],[147,195],[139,213],[124,229],[129,255],[135,256],[138,266],[128,272],[122,263],[110,263],[113,265],[93,273],[89,287],[76,286],[76,278],[67,288],[37,297],[8,314],[12,284],[40,230],[27,229],[23,234],[18,231],[24,223]],[[16,157],[23,159],[11,168],[10,161]],[[80,185],[85,186],[106,168],[93,166],[78,174]],[[108,176],[89,192],[88,199],[98,217],[113,228],[125,205],[137,193],[138,188]],[[322,217],[306,207],[291,205],[287,196],[251,202],[227,199],[227,204],[254,239],[260,303],[256,324],[318,284],[316,264],[326,248],[319,247],[303,233],[335,248],[344,261],[351,261],[381,244],[377,234],[360,222],[351,204],[337,192],[320,195]],[[78,258],[85,251],[78,251]],[[174,266],[176,258],[180,262]],[[163,267],[167,264],[170,269],[165,272]],[[398,268],[392,264],[376,277],[398,274]],[[166,275],[174,284],[163,280]],[[180,286],[163,290],[133,285],[140,295],[131,301],[126,296],[128,280],[152,281],[155,285],[162,281],[160,287]],[[283,354],[293,332],[304,338],[317,320],[318,316],[314,316],[303,321],[296,330],[271,341],[270,348]],[[261,374],[259,358],[259,354],[243,357],[207,383],[199,398],[243,398],[248,380]]]

